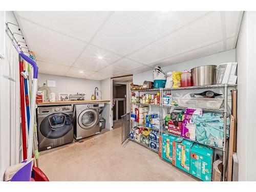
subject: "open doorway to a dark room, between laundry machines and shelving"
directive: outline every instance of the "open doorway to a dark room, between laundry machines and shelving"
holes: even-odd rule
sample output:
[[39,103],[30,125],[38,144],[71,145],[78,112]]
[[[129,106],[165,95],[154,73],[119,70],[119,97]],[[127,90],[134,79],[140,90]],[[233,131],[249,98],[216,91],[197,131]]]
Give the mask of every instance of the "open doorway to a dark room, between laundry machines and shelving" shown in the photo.
[[133,75],[112,78],[113,129],[121,126],[122,116],[130,111],[130,84],[132,81]]

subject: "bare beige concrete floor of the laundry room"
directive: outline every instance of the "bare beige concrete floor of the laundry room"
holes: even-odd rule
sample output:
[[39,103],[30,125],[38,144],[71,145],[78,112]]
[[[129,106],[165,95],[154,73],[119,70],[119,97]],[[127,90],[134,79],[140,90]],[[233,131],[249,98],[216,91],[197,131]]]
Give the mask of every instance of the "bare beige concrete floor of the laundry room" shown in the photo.
[[50,181],[196,181],[133,142],[121,145],[121,127],[40,153]]

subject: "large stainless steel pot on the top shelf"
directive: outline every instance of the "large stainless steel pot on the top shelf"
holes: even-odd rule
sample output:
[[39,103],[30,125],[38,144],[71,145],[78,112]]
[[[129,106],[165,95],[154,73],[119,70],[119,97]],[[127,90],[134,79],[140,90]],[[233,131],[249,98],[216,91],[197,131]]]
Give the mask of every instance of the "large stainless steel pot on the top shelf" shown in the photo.
[[191,69],[192,86],[216,84],[216,67],[209,65]]

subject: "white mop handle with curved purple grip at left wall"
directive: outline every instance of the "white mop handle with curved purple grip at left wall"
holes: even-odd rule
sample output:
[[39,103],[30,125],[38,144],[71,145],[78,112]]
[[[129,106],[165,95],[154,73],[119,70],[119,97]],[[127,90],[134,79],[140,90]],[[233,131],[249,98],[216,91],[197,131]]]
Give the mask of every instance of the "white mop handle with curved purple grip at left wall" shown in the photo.
[[29,138],[28,138],[28,161],[32,159],[32,151],[33,151],[33,132],[34,132],[34,123],[35,123],[35,98],[37,94],[37,74],[38,67],[36,62],[29,58],[22,52],[19,52],[19,55],[30,63],[33,67],[33,88],[32,88],[32,97],[31,97],[31,107],[30,107],[30,122],[29,122]]

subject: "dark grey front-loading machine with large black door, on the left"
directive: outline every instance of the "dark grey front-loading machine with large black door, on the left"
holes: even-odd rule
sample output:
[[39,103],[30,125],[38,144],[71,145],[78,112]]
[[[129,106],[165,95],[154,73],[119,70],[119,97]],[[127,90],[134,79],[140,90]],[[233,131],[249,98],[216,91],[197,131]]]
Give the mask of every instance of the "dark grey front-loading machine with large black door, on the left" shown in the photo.
[[39,106],[37,108],[38,151],[73,142],[73,106]]

